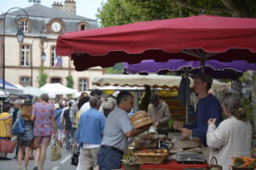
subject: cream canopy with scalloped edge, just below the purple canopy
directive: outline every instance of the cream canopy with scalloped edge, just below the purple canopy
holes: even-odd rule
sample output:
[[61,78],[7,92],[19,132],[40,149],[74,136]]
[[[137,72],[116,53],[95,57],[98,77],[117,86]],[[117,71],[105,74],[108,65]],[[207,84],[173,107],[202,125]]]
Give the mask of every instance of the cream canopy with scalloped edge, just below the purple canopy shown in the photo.
[[[131,86],[143,87],[148,85],[153,88],[178,88],[182,77],[177,76],[160,76],[150,74],[148,76],[141,75],[102,75],[94,77],[92,84],[97,86]],[[190,78],[190,88],[193,86],[193,79]],[[228,88],[228,84],[213,80],[212,88],[222,91]]]

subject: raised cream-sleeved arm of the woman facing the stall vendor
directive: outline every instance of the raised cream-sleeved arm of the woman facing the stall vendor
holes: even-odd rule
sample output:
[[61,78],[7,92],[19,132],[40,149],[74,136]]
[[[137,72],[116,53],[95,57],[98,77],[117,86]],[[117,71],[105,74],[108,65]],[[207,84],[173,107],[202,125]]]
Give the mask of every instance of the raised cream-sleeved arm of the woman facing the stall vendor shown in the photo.
[[214,119],[209,119],[207,130],[207,145],[212,149],[220,149],[226,143],[228,135],[224,124],[219,124],[216,128]]

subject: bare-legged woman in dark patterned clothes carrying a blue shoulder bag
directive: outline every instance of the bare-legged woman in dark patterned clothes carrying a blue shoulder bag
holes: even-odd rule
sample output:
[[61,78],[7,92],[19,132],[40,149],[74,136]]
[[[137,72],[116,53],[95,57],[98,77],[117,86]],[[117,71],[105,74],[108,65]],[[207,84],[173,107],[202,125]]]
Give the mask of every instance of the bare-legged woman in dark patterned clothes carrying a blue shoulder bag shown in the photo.
[[26,113],[27,110],[24,107],[32,106],[32,101],[27,101],[23,104],[23,109],[20,115],[17,115],[16,121],[23,120],[24,121],[24,133],[22,135],[17,136],[17,143],[19,145],[19,153],[18,153],[18,168],[21,169],[21,162],[23,158],[23,152],[25,149],[25,170],[27,170],[28,160],[30,158],[30,150],[33,143],[33,124],[30,119],[27,118],[27,115],[31,115],[32,113]]

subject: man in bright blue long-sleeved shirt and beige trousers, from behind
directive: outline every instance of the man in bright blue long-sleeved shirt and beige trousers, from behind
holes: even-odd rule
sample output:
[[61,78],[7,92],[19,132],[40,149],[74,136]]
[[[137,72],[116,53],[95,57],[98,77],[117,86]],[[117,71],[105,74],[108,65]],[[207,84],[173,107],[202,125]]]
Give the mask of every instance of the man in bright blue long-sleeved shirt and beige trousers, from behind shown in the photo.
[[96,153],[102,143],[106,118],[98,111],[102,104],[100,96],[90,98],[90,109],[79,118],[78,142],[82,146],[79,161],[83,170],[98,169]]

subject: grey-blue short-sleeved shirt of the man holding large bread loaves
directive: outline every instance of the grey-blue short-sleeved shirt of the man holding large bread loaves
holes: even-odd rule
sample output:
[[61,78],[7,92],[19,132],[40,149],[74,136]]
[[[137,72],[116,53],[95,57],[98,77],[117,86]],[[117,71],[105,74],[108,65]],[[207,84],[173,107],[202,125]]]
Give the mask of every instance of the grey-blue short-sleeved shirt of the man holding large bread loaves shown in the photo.
[[128,113],[117,107],[108,115],[102,144],[125,151],[128,147],[128,138],[125,133],[130,132],[132,129]]

